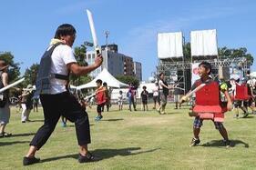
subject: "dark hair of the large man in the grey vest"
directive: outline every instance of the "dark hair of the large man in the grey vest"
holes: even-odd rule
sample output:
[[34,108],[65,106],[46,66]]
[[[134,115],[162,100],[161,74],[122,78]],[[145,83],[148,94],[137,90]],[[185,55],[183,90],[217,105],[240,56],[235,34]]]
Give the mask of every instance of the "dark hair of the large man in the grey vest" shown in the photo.
[[59,25],[56,28],[55,38],[60,39],[60,36],[76,35],[76,33],[77,31],[73,25],[69,25],[69,24]]

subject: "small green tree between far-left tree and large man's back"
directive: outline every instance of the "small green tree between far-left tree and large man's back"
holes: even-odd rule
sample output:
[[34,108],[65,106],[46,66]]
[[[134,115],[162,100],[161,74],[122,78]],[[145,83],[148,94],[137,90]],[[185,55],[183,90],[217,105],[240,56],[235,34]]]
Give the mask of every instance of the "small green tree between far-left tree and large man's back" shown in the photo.
[[30,66],[30,68],[26,68],[25,72],[25,82],[24,86],[26,85],[36,85],[36,74],[38,72],[39,65],[33,64]]

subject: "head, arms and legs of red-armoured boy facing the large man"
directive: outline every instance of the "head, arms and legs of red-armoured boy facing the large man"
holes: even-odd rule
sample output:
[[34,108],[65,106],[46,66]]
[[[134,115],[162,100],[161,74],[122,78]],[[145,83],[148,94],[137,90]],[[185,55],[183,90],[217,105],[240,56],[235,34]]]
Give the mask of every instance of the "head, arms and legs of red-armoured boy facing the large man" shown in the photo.
[[[208,62],[202,62],[199,65],[199,75],[200,75],[200,79],[197,80],[191,87],[191,90],[194,90],[197,86],[201,85],[201,84],[210,84],[213,82],[213,80],[210,78],[210,71],[211,71],[211,65]],[[222,85],[220,85],[220,90],[221,92],[224,93],[227,101],[228,101],[228,105],[227,108],[228,110],[232,109],[232,102],[230,99],[230,95],[228,94],[228,89],[222,89],[221,88]],[[223,86],[227,86],[227,85],[223,85]],[[182,102],[184,102],[185,100],[181,99]],[[191,143],[189,144],[189,146],[195,146],[195,145],[199,145],[200,144],[200,127],[202,125],[203,119],[200,119],[200,116],[196,116],[195,120],[194,120],[194,124],[193,124],[193,133],[194,133],[194,137],[192,138]],[[230,146],[230,140],[229,140],[229,136],[227,133],[226,128],[224,127],[224,125],[221,122],[214,122],[215,128],[219,130],[220,135],[222,135],[223,139],[224,139],[224,144],[229,147]]]

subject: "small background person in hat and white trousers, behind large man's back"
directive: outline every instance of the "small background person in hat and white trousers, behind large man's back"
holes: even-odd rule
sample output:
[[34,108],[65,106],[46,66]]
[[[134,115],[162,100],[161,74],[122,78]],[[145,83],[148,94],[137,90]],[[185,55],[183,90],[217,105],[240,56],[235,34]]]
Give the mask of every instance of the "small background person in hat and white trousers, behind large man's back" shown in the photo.
[[21,122],[26,123],[30,122],[29,115],[33,108],[33,86],[27,85],[25,89],[22,91],[22,95],[20,95],[21,98],[21,107],[22,107],[22,113],[21,113]]

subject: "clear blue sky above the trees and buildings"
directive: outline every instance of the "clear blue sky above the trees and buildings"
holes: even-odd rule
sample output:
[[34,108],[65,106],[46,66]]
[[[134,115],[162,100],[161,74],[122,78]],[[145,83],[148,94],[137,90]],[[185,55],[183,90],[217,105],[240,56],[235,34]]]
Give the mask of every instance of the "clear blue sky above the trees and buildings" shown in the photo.
[[[94,15],[100,45],[104,31],[108,43],[118,45],[119,53],[142,63],[143,79],[158,64],[157,34],[217,29],[218,46],[246,47],[256,56],[256,1],[253,0],[8,0],[0,2],[0,51],[10,51],[22,72],[41,55],[60,24],[77,29],[74,46],[91,41],[86,9]],[[256,61],[252,66],[256,70]]]

